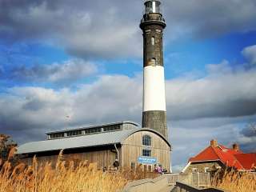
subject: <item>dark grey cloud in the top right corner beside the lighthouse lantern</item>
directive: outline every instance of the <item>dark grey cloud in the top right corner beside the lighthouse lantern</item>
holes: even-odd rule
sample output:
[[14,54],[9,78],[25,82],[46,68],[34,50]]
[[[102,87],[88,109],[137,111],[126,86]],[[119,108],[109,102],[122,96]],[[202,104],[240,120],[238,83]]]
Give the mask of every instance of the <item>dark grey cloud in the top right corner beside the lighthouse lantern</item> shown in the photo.
[[254,0],[166,0],[164,3],[167,21],[178,33],[183,30],[202,38],[256,29]]

